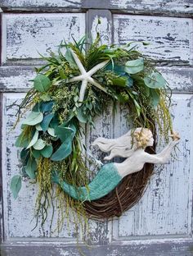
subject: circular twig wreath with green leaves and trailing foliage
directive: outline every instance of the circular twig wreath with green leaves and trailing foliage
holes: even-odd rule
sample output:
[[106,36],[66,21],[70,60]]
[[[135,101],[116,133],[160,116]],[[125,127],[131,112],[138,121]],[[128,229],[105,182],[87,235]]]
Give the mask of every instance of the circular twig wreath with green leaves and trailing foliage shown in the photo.
[[[99,34],[90,42],[83,37],[79,42],[61,43],[57,54],[43,57],[47,63],[36,68],[34,86],[18,110],[18,121],[22,110],[31,112],[16,140],[16,146],[23,148],[22,167],[20,175],[11,180],[11,190],[16,198],[22,177],[37,181],[37,216],[43,222],[53,198],[53,170],[61,181],[77,188],[88,184],[92,176],[89,166],[96,162],[83,145],[82,127],[95,126],[95,117],[110,104],[114,109],[118,103],[126,106],[132,126],[146,127],[154,136],[155,124],[164,138],[172,128],[168,85],[155,63],[137,51],[137,43],[123,47],[99,43]],[[155,147],[148,150],[155,152]],[[142,171],[126,176],[113,191],[92,202],[75,201],[59,187],[57,196],[89,217],[120,216],[141,198],[152,172],[153,165],[146,164]]]

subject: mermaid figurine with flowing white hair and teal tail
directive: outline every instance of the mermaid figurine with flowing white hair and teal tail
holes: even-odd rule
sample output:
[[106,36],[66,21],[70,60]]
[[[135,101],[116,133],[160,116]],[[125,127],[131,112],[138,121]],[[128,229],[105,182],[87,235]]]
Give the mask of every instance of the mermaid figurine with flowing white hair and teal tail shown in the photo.
[[141,171],[146,162],[163,164],[168,162],[173,147],[179,142],[179,135],[174,133],[166,148],[158,154],[146,153],[146,147],[153,146],[152,132],[146,128],[129,130],[127,134],[117,139],[97,138],[93,145],[97,145],[103,152],[110,152],[105,160],[114,157],[126,158],[123,162],[110,162],[104,164],[96,174],[95,178],[87,185],[75,188],[73,185],[59,181],[54,174],[53,181],[59,185],[72,198],[80,201],[92,201],[100,199],[105,194],[119,185],[124,176]]

